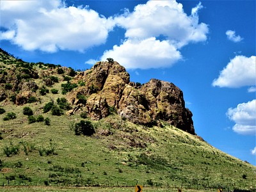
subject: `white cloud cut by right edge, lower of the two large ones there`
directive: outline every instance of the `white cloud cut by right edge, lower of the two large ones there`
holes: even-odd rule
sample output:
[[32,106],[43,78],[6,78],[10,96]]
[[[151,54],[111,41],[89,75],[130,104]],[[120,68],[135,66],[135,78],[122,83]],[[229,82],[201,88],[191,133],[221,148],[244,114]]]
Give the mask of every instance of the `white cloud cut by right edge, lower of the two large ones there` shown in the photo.
[[256,99],[229,108],[226,115],[236,123],[233,131],[239,134],[256,134]]

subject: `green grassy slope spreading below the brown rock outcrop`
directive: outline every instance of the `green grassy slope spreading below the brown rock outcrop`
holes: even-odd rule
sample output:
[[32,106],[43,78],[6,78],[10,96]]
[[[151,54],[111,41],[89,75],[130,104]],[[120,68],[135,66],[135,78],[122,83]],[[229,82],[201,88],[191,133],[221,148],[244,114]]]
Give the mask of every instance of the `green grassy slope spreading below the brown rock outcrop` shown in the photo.
[[[2,58],[1,74],[15,67],[7,61],[17,60],[9,56]],[[43,69],[38,64],[33,70],[42,72]],[[83,119],[79,113],[67,116],[66,109],[60,116],[52,115],[52,111],[44,113],[45,104],[54,102],[60,106],[57,99],[65,97],[61,94],[63,74],[54,76],[61,81],[47,89],[58,90],[56,94],[50,91],[41,95],[44,79],[38,78],[33,79],[39,86],[35,101],[17,106],[10,97],[0,102],[0,108],[5,111],[0,115],[1,186],[134,186],[138,183],[167,191],[177,187],[202,191],[220,187],[256,188],[255,166],[165,122],[161,122],[163,127],[135,125],[115,111],[99,121]],[[2,88],[4,84],[1,83]],[[49,125],[45,121],[29,124],[28,115],[23,114],[25,107],[32,109],[35,119],[40,115],[49,118]],[[15,113],[16,118],[4,120],[8,113]],[[74,130],[81,120],[92,122],[95,134],[77,136]]]

